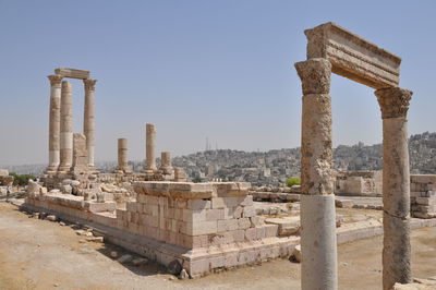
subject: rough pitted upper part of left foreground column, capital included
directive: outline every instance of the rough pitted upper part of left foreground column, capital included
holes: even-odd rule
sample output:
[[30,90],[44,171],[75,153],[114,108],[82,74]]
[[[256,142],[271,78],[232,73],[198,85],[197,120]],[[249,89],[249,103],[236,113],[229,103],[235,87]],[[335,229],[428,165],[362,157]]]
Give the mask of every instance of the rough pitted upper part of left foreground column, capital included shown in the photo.
[[331,64],[325,59],[295,63],[303,87],[301,180],[303,194],[332,194]]

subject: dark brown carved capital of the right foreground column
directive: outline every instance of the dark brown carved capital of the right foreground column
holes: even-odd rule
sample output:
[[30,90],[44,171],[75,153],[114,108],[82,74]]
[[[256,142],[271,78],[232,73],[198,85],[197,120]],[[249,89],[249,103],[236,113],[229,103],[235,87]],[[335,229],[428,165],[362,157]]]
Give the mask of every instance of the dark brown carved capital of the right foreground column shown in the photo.
[[380,88],[374,93],[382,110],[382,119],[405,118],[412,92],[400,87]]

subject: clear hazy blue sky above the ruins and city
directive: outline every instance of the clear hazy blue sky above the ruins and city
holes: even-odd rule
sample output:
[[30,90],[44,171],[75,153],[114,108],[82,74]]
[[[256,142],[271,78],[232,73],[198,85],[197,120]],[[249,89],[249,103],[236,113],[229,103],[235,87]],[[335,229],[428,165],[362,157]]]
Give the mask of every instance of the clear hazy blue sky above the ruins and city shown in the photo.
[[[400,56],[414,92],[409,133],[436,131],[435,1],[0,0],[0,166],[48,162],[49,81],[89,70],[96,84],[96,159],[300,146],[303,31],[332,21]],[[74,132],[83,83],[72,80]],[[382,142],[373,89],[332,77],[334,146]]]

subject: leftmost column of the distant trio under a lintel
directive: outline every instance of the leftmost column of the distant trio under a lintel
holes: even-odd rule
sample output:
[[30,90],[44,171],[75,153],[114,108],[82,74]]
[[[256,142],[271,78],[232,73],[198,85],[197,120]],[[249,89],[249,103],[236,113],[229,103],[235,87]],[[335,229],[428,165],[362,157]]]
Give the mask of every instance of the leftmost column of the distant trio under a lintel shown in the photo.
[[55,173],[60,160],[60,122],[61,122],[61,81],[62,76],[52,74],[47,76],[50,80],[50,117],[48,136],[48,167],[47,173]]

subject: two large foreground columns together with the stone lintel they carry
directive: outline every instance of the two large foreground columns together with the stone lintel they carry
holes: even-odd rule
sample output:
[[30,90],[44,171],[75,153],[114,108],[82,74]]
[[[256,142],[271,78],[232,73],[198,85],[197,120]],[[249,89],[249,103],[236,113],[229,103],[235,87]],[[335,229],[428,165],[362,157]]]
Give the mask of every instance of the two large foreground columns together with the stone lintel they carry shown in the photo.
[[411,281],[410,173],[407,112],[412,92],[399,88],[401,59],[326,23],[305,31],[302,82],[302,289],[337,289],[337,241],[331,148],[331,72],[375,88],[383,118],[383,285]]

